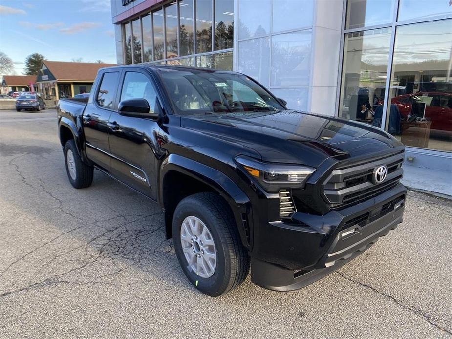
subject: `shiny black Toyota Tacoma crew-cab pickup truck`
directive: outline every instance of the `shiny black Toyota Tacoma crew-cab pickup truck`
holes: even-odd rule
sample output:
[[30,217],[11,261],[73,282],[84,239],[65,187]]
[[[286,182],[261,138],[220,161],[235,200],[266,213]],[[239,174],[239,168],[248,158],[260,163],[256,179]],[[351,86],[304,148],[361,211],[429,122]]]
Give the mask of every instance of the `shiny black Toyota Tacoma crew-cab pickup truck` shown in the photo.
[[250,77],[178,66],[99,70],[58,103],[70,183],[100,170],[158,203],[190,282],[301,288],[402,222],[404,146],[385,131],[288,110]]

